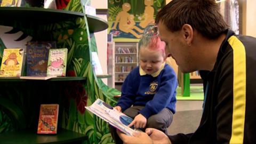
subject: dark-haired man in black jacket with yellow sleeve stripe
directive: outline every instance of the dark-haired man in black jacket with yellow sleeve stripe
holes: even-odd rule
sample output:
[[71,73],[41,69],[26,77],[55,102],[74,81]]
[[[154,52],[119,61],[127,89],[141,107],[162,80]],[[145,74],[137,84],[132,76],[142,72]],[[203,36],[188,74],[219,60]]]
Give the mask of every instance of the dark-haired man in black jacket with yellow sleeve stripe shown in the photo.
[[191,134],[118,132],[124,143],[256,143],[256,38],[229,30],[214,0],[173,0],[156,24],[183,73],[204,71],[201,123]]

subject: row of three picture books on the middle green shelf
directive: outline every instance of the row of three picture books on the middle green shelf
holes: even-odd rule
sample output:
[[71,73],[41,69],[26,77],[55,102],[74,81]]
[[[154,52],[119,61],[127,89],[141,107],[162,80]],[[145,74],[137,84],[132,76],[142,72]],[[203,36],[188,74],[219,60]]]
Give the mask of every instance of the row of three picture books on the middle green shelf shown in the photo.
[[4,49],[0,77],[66,76],[68,49],[56,42],[28,42],[26,49]]

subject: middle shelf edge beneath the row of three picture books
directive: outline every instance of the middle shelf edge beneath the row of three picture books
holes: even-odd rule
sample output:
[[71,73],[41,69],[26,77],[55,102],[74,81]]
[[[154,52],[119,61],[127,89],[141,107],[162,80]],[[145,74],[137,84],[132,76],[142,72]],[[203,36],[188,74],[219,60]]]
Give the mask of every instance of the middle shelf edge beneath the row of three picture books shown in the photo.
[[19,77],[0,77],[0,82],[23,82],[23,81],[83,81],[86,77],[53,77],[47,80],[20,79]]

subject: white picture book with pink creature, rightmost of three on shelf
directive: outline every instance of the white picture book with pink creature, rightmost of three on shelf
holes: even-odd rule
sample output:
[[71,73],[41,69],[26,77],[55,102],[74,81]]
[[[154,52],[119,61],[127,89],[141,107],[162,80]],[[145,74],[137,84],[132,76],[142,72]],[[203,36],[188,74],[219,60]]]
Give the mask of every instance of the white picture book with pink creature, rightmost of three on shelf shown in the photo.
[[66,76],[68,49],[50,49],[47,75]]

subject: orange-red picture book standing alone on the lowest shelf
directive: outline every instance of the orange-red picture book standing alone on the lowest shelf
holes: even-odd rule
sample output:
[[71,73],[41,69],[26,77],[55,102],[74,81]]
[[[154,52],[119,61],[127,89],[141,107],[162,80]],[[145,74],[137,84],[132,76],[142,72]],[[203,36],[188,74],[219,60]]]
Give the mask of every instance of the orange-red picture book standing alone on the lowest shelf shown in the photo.
[[56,134],[58,128],[58,104],[42,104],[39,111],[38,134]]

